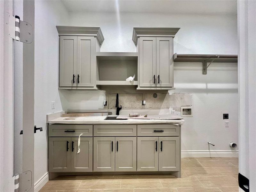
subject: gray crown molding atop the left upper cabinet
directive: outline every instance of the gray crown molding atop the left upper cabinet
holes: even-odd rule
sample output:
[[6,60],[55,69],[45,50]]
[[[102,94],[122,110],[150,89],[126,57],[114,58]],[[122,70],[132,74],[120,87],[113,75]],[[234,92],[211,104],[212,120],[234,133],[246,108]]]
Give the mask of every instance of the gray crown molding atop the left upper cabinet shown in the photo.
[[76,27],[76,26],[56,26],[59,35],[75,35],[75,36],[95,36],[100,44],[104,41],[104,36],[100,27]]

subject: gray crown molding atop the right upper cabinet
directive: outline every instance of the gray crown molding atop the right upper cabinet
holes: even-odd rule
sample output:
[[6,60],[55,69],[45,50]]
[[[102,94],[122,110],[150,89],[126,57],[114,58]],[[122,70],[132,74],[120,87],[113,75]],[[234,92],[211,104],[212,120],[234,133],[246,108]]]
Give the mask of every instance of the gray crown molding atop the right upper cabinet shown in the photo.
[[138,37],[140,36],[162,36],[162,37],[174,37],[180,28],[144,28],[144,27],[134,27],[132,33],[132,41],[137,44]]

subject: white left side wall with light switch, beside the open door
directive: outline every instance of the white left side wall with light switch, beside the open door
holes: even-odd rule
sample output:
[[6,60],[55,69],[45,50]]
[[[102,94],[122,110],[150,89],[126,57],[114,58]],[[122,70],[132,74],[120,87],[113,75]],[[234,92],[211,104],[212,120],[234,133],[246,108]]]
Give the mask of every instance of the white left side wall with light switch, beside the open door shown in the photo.
[[[47,181],[46,114],[62,110],[58,92],[59,36],[56,25],[67,25],[68,12],[60,1],[35,1],[35,191]],[[55,101],[55,109],[51,102]],[[41,183],[41,181],[43,181]]]

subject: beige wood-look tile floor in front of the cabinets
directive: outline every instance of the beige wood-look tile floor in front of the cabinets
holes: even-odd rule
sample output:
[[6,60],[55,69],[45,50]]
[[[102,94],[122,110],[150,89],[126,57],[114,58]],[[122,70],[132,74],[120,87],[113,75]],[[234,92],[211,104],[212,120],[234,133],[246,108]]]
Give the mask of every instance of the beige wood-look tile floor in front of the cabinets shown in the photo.
[[238,192],[238,158],[182,158],[172,175],[59,176],[40,192]]

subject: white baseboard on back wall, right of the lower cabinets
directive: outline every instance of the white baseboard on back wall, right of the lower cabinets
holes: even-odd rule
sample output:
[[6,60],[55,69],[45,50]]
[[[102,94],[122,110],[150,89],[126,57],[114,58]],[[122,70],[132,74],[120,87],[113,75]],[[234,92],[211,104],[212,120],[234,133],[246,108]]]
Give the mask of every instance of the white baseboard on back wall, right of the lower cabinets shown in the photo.
[[182,157],[238,157],[238,150],[181,151],[181,158]]

